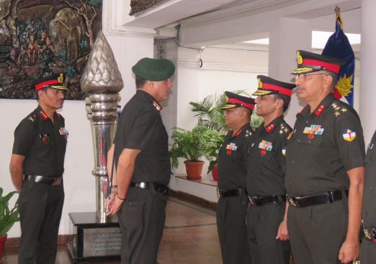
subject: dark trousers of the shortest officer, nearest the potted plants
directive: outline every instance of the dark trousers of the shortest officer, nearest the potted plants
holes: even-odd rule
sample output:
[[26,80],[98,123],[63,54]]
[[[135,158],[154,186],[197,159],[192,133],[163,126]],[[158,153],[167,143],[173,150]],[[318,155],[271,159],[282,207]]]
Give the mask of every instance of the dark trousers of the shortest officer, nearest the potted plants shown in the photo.
[[247,216],[248,198],[220,197],[217,203],[217,228],[224,264],[250,264]]

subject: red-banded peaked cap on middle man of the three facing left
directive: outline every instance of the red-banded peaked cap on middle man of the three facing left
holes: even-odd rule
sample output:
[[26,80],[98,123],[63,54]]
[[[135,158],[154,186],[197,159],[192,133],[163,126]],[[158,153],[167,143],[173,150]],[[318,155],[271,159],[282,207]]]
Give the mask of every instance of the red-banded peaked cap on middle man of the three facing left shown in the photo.
[[292,89],[296,87],[296,85],[293,83],[277,81],[264,75],[258,75],[257,79],[258,89],[252,94],[253,96],[266,96],[273,94],[291,96]]

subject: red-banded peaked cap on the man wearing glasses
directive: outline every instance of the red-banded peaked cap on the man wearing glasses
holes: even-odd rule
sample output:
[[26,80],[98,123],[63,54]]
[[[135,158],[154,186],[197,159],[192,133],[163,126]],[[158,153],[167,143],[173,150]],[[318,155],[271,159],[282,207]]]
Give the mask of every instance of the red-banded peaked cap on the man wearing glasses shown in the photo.
[[298,68],[291,74],[303,74],[308,72],[329,71],[337,73],[341,65],[345,64],[344,61],[336,58],[308,52],[305,50],[297,50]]

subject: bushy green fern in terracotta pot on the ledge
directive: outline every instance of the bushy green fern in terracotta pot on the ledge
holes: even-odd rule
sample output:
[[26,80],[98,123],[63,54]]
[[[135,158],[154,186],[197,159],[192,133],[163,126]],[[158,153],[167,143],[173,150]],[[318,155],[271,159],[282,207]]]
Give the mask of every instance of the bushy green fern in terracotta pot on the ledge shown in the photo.
[[211,150],[217,146],[221,135],[216,130],[199,125],[190,131],[174,127],[171,138],[174,140],[174,144],[172,144],[169,153],[172,167],[177,168],[179,166],[178,158],[199,161],[205,157],[211,160]]

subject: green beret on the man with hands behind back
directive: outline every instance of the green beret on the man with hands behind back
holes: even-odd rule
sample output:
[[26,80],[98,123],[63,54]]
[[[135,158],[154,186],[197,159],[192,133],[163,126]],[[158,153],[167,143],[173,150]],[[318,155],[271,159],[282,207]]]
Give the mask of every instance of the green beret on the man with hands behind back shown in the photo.
[[166,59],[142,58],[132,67],[132,72],[145,80],[163,81],[174,74],[175,65]]

